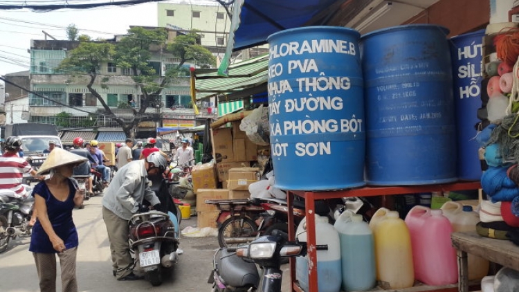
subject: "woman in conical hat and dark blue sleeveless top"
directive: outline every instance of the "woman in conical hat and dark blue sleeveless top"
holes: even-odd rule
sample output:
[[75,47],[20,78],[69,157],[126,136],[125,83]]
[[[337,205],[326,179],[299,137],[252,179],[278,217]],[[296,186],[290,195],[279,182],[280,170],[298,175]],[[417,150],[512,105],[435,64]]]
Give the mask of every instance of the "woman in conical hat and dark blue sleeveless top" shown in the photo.
[[86,158],[55,148],[48,155],[38,174],[50,174],[50,179],[38,183],[33,190],[37,221],[30,237],[42,292],[56,291],[56,257],[60,257],[62,291],[78,291],[75,258],[78,232],[72,219],[74,206],[83,203],[84,190],[77,190],[71,179],[73,167]]

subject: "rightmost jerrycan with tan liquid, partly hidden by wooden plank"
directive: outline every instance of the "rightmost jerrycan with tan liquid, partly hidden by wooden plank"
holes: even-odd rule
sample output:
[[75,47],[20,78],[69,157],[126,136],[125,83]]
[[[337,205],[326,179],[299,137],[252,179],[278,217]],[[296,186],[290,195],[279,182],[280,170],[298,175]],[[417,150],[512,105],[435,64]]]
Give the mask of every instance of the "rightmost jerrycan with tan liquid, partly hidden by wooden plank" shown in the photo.
[[[474,212],[472,206],[463,206],[455,201],[448,201],[441,206],[445,217],[453,226],[453,232],[475,231],[480,215]],[[468,280],[480,280],[489,273],[489,261],[468,254]]]

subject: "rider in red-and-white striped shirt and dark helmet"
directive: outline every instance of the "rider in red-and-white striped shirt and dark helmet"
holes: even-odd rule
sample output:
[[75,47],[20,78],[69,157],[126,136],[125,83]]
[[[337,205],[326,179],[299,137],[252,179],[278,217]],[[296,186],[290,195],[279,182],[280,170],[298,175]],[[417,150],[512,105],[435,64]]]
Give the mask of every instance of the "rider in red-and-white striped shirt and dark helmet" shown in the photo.
[[[3,155],[0,156],[0,173],[2,180],[0,189],[12,190],[20,198],[28,196],[26,188],[22,184],[24,173],[29,172],[30,175],[37,177],[36,170],[24,159],[18,156],[21,147],[21,139],[15,136],[10,136],[6,139]],[[42,179],[42,177],[38,177]],[[36,212],[30,218],[30,225],[36,220]]]

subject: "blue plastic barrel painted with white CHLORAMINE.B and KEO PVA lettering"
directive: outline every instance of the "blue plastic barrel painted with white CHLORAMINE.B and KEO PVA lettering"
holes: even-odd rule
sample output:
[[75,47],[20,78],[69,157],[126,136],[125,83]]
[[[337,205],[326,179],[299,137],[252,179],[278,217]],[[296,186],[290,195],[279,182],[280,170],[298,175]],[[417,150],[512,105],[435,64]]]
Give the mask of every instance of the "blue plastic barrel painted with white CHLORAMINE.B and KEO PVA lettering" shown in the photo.
[[351,28],[314,26],[268,37],[268,115],[275,187],[365,185],[363,79]]

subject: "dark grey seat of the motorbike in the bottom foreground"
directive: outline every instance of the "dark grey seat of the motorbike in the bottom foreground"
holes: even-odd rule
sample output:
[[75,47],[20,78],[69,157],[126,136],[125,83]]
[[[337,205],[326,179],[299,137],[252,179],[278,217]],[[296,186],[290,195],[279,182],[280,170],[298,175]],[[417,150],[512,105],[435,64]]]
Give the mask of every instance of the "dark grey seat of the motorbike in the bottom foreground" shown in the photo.
[[227,286],[244,287],[260,284],[260,275],[253,262],[245,262],[242,258],[226,249],[220,249],[217,258],[218,273]]

